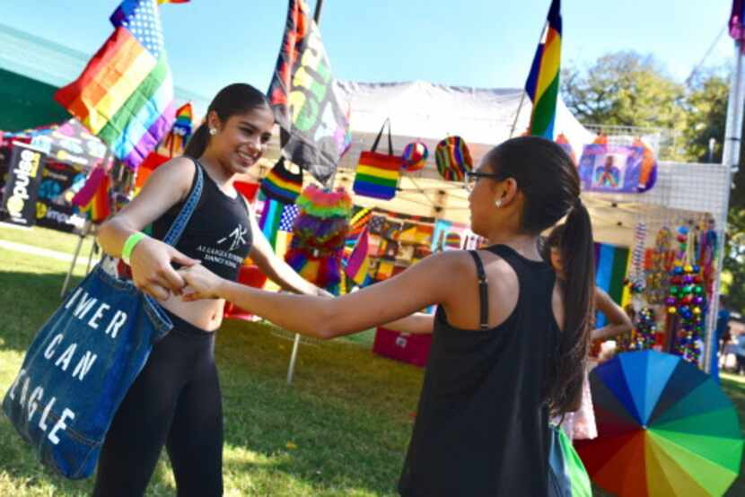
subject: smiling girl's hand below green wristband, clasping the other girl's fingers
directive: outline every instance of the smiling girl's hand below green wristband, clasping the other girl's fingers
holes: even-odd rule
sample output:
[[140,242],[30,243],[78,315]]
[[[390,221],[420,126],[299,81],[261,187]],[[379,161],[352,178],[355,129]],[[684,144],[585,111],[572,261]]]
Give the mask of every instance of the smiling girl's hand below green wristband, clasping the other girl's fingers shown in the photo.
[[171,263],[193,266],[199,261],[183,255],[160,240],[147,237],[137,243],[129,262],[135,286],[154,298],[165,301],[171,292],[180,295],[186,284]]

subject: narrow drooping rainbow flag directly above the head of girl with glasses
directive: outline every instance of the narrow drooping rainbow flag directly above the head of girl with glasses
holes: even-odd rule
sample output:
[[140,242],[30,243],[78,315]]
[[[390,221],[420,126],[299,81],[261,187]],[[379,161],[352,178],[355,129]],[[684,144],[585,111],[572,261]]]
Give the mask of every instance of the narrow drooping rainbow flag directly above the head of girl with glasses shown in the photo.
[[560,66],[561,0],[551,0],[546,27],[530,66],[528,81],[525,82],[525,92],[533,102],[530,135],[554,139]]

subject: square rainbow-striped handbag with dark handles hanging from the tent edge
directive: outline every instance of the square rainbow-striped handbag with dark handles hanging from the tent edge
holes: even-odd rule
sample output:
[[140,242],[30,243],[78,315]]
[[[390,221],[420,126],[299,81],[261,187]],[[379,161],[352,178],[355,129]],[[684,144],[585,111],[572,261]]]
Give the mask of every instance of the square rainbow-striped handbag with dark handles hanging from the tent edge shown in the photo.
[[[378,144],[385,125],[388,125],[388,153],[378,153]],[[393,141],[390,138],[390,119],[386,119],[381,131],[375,137],[373,148],[360,153],[352,189],[360,196],[372,196],[381,200],[390,200],[396,196],[399,186],[399,174],[403,158],[393,155]]]

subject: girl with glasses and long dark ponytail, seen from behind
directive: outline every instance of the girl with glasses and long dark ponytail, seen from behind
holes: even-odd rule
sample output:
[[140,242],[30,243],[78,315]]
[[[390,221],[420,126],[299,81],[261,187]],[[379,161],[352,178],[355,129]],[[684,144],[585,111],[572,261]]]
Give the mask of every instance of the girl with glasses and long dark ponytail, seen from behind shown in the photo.
[[[468,187],[471,229],[485,249],[425,257],[338,299],[262,292],[191,266],[180,271],[183,298],[227,299],[320,338],[383,323],[433,333],[399,492],[557,495],[549,420],[573,409],[592,324],[592,227],[577,171],[559,145],[525,136],[489,151]],[[565,216],[560,284],[537,242]],[[412,315],[432,304],[434,318]]]

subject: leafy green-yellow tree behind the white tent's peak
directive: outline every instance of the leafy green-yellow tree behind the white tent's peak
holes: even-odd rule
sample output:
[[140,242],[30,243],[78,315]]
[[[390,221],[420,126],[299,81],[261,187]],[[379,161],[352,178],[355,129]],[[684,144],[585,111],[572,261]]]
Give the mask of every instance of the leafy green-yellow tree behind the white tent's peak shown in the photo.
[[583,123],[683,127],[684,87],[652,56],[616,52],[584,70],[567,65],[561,74],[561,91],[566,106]]

